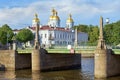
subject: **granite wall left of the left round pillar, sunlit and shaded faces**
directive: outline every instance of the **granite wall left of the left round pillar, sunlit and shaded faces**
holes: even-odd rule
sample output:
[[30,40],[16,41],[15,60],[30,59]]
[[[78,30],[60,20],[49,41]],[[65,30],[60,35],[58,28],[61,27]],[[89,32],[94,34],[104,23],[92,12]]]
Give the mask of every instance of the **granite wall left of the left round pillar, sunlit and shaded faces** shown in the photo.
[[6,70],[31,67],[31,54],[18,54],[15,50],[0,50],[0,63]]

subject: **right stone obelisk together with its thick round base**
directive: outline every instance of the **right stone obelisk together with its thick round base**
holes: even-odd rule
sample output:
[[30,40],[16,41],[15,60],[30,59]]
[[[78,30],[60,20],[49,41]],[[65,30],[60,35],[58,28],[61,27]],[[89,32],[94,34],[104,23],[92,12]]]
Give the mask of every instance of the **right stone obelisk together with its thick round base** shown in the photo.
[[94,76],[95,78],[107,77],[107,47],[103,37],[103,18],[100,17],[100,33],[98,45],[94,53]]

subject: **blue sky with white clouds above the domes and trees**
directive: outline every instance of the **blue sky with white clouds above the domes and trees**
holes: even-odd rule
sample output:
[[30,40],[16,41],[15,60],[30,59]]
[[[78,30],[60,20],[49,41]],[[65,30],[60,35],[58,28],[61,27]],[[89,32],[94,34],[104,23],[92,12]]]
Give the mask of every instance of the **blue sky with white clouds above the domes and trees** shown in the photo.
[[64,27],[71,13],[75,25],[99,25],[100,16],[110,22],[120,20],[120,0],[0,0],[0,26],[8,24],[12,29],[32,25],[37,13],[42,25],[47,24],[51,9],[55,8]]

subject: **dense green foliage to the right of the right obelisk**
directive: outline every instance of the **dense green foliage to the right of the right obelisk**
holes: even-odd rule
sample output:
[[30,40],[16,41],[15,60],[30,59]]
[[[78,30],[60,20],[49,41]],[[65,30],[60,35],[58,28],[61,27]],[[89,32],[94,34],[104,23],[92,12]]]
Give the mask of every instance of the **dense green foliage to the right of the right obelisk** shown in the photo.
[[105,41],[108,45],[120,44],[120,21],[105,25],[104,34]]

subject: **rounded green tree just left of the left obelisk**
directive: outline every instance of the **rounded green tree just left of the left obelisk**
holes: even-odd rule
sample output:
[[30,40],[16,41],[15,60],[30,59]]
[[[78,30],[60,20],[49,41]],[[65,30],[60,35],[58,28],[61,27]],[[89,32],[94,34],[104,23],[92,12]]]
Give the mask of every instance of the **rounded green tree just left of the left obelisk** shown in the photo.
[[29,29],[22,29],[17,35],[16,39],[20,42],[27,42],[33,40],[33,33]]

